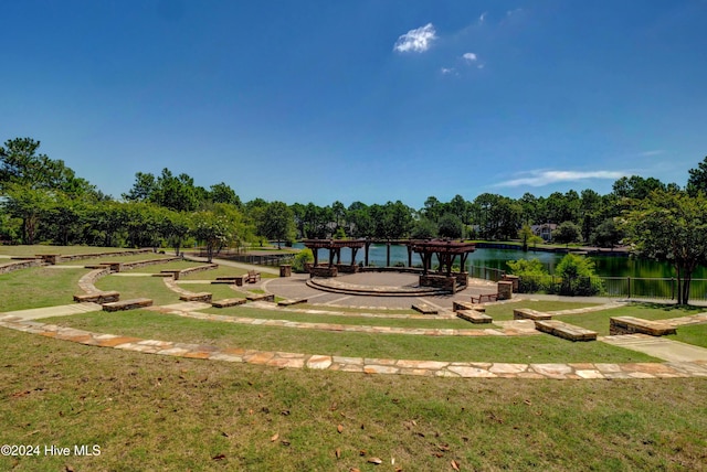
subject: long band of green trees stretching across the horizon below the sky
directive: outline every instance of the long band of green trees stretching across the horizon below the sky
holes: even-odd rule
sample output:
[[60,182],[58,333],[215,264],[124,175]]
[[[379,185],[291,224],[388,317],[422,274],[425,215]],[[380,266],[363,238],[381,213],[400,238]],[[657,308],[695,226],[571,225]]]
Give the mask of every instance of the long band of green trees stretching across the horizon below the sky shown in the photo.
[[[429,196],[423,207],[412,208],[400,201],[348,206],[335,201],[320,206],[258,197],[243,203],[224,182],[205,189],[188,174],[175,175],[169,169],[159,175],[137,172],[133,186],[115,199],[39,149],[40,141],[31,138],[10,139],[0,147],[3,243],[168,246],[177,253],[184,245],[199,244],[212,254],[225,246],[266,239],[287,243],[327,237],[520,239],[529,244],[537,242],[538,227],[545,227],[561,244],[613,247],[630,243],[639,254],[672,261],[680,278],[688,277],[695,264],[704,264],[707,254],[707,243],[701,247],[707,237],[703,230],[707,158],[689,171],[683,187],[632,175],[616,180],[605,195],[587,189],[547,197],[483,193],[473,200],[455,195],[441,202]],[[684,247],[675,243],[680,238],[687,242]]]

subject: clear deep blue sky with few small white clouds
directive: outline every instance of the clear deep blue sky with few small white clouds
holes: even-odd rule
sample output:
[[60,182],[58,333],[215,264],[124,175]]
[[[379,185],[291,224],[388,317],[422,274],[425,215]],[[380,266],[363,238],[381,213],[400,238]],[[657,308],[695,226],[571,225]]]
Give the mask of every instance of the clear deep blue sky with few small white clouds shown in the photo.
[[0,140],[118,197],[162,168],[243,201],[684,185],[707,0],[3,1]]

